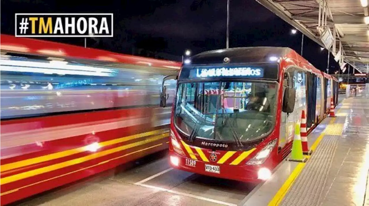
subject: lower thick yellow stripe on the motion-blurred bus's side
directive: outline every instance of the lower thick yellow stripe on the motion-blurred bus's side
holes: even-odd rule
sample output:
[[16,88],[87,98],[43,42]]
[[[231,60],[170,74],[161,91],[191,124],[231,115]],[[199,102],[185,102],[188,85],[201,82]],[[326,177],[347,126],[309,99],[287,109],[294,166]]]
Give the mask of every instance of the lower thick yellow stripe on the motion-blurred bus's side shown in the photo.
[[77,159],[71,159],[71,160],[61,162],[61,163],[58,163],[58,164],[45,166],[45,167],[42,167],[42,168],[30,170],[30,171],[27,171],[27,172],[22,172],[22,173],[12,175],[12,176],[7,176],[5,178],[0,179],[0,185],[4,185],[4,184],[10,183],[10,182],[15,182],[15,181],[18,181],[20,179],[29,178],[29,177],[32,177],[32,176],[35,176],[35,175],[44,174],[46,172],[54,171],[54,170],[61,169],[61,168],[67,167],[67,166],[80,164],[82,162],[86,162],[86,161],[89,161],[91,159],[103,157],[103,156],[108,155],[108,154],[113,154],[114,152],[119,152],[119,151],[122,151],[122,150],[127,150],[127,149],[132,148],[132,147],[137,147],[137,146],[140,146],[140,145],[143,145],[143,144],[151,143],[151,142],[154,142],[156,140],[160,140],[160,139],[168,137],[168,136],[169,136],[169,133],[160,134],[160,135],[157,135],[155,137],[149,138],[147,140],[138,141],[138,142],[123,145],[123,146],[120,146],[120,147],[115,147],[115,148],[112,148],[110,150],[104,150],[104,151],[101,151],[101,152],[96,152],[94,154],[90,154],[90,155],[80,157],[80,158],[77,158]]

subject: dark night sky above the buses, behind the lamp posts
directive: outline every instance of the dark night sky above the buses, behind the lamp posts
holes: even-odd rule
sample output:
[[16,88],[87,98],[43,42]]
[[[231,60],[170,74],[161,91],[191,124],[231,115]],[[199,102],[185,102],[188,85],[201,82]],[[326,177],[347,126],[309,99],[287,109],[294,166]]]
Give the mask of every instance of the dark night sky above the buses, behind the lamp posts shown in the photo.
[[[113,13],[114,37],[88,39],[87,47],[124,54],[137,48],[181,56],[225,48],[227,0],[0,0],[0,33],[14,35],[15,13]],[[94,3],[96,2],[96,3]],[[230,48],[290,47],[300,53],[301,33],[254,0],[230,0]],[[84,38],[46,40],[84,46]],[[1,42],[0,42],[1,43]],[[135,49],[136,48],[136,49]],[[327,50],[304,38],[303,56],[327,68]],[[338,64],[330,56],[330,73]],[[174,60],[174,59],[173,59]],[[351,70],[352,71],[352,70]]]

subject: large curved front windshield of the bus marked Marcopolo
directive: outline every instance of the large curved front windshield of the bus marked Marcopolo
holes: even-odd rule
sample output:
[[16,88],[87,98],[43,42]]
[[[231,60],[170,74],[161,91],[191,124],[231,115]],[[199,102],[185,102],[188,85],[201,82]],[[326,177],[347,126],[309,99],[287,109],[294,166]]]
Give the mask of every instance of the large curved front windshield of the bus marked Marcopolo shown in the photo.
[[248,142],[275,121],[275,82],[179,83],[174,123],[189,139]]

